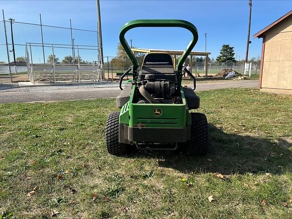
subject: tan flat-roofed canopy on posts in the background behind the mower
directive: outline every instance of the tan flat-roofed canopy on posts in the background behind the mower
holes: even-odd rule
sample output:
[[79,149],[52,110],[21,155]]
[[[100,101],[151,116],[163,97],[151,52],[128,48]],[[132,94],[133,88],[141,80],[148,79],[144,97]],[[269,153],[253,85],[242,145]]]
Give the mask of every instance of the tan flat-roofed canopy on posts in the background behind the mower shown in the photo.
[[[140,49],[140,48],[131,48],[133,52],[140,52],[140,53],[151,53],[151,52],[165,52],[168,53],[169,55],[173,56],[173,65],[175,67],[176,63],[176,56],[181,56],[182,53],[184,53],[184,50],[158,50],[158,49]],[[191,67],[191,72],[192,72],[192,67],[193,67],[193,56],[205,56],[205,60],[208,60],[208,56],[210,55],[210,52],[200,52],[200,51],[191,51],[190,52],[190,67]],[[205,76],[207,77],[208,75],[208,62],[205,61]]]

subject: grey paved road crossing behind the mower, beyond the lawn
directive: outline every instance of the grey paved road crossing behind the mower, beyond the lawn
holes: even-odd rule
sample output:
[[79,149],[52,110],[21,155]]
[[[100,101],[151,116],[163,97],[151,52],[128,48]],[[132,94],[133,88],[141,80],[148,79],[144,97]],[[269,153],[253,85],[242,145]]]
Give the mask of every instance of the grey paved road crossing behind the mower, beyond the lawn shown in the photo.
[[[206,82],[197,83],[197,91],[212,90],[222,88],[257,88],[258,80],[243,80],[243,81],[220,81],[220,82]],[[189,85],[190,87],[192,85]],[[9,102],[35,102],[35,101],[55,101],[55,100],[79,100],[79,99],[97,99],[104,97],[116,97],[120,93],[118,87],[103,87],[103,88],[83,88],[76,86],[76,89],[60,89],[51,90],[35,89],[33,91],[17,91],[4,92],[0,90],[0,103]]]

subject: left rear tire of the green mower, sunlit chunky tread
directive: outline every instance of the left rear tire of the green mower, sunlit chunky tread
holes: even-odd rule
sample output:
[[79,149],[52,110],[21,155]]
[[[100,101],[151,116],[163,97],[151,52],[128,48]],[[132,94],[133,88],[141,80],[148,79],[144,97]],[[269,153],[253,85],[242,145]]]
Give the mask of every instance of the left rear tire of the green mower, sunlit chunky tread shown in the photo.
[[113,112],[108,115],[105,126],[106,150],[112,155],[124,155],[128,152],[128,145],[119,142],[119,115]]

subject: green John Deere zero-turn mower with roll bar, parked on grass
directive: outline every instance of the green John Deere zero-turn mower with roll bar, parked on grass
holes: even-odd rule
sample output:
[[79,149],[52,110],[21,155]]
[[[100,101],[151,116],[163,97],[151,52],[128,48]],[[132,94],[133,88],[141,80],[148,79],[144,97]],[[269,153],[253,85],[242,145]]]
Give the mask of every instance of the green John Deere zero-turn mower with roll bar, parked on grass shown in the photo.
[[[182,27],[193,39],[176,68],[167,53],[149,53],[139,68],[125,33],[135,27]],[[204,114],[190,112],[200,105],[192,88],[182,87],[182,65],[198,41],[197,28],[184,20],[134,20],[120,31],[120,42],[133,65],[121,76],[117,105],[121,112],[108,115],[105,141],[109,154],[125,155],[138,150],[181,149],[190,155],[204,155],[208,147],[208,122]],[[139,68],[139,69],[138,69]],[[123,78],[132,71],[130,87],[122,88]],[[194,81],[195,78],[186,69]]]

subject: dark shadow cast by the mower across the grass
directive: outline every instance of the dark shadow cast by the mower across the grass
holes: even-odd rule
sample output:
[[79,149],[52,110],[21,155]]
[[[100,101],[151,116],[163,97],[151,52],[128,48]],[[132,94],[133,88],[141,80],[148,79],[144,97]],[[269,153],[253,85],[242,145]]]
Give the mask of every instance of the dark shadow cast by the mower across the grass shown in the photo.
[[277,141],[246,135],[227,134],[209,124],[208,154],[191,157],[177,152],[137,152],[135,158],[157,158],[159,166],[181,172],[220,172],[280,174],[292,169],[289,148],[292,144],[283,138]]

